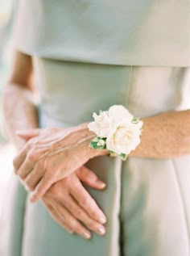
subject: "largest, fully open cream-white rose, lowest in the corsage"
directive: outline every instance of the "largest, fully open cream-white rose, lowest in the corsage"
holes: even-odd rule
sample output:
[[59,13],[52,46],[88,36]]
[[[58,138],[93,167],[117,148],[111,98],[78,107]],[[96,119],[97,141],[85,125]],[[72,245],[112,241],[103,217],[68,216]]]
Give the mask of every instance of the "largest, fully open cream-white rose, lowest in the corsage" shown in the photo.
[[113,128],[106,139],[106,148],[110,151],[129,154],[140,143],[141,130],[137,124],[123,124]]

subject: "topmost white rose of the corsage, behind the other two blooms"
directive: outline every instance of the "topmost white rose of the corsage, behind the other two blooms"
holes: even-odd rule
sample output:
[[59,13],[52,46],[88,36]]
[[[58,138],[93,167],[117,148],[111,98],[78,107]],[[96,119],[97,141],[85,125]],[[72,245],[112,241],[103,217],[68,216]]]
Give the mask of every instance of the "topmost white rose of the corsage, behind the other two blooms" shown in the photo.
[[134,118],[134,116],[130,114],[130,111],[128,111],[126,107],[123,107],[122,105],[114,105],[109,107],[108,115],[115,124],[121,124],[123,121],[130,123]]

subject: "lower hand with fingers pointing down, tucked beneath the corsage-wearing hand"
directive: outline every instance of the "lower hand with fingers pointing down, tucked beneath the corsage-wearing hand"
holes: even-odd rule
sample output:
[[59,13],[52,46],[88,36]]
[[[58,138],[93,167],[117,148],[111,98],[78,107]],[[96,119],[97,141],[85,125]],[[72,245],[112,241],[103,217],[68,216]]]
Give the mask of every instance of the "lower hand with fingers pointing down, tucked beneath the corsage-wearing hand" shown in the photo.
[[[106,218],[81,181],[89,187],[101,190],[105,183],[85,166],[63,178],[43,195],[43,204],[64,229],[77,233],[85,239],[91,237],[89,230],[104,235]],[[84,224],[87,228],[85,228]]]

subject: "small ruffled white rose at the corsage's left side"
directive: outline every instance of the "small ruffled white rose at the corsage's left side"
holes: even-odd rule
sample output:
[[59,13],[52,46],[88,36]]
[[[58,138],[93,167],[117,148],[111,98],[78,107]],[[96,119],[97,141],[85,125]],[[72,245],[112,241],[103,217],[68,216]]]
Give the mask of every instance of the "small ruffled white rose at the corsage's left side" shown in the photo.
[[100,111],[100,115],[93,113],[94,122],[89,123],[90,131],[96,133],[101,138],[107,137],[111,128],[112,120],[109,118],[108,111]]

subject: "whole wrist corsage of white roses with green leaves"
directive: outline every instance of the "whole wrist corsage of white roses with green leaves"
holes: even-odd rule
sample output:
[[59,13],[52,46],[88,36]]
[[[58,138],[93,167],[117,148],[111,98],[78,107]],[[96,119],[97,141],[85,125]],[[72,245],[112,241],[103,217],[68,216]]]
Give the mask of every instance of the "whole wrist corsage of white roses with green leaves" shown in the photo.
[[109,107],[108,111],[93,113],[94,121],[88,124],[97,137],[90,142],[93,149],[107,149],[110,156],[126,160],[127,155],[140,144],[142,121],[122,105]]

